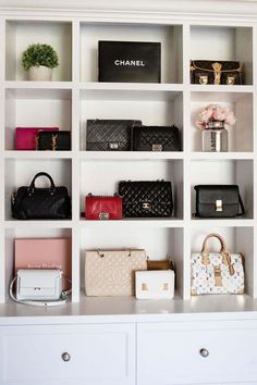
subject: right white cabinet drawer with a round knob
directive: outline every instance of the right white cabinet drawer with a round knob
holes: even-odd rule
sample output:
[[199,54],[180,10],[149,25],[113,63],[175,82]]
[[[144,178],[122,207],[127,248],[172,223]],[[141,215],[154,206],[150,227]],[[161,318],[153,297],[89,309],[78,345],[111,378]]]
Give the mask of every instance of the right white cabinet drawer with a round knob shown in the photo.
[[138,385],[257,383],[257,324],[138,325]]

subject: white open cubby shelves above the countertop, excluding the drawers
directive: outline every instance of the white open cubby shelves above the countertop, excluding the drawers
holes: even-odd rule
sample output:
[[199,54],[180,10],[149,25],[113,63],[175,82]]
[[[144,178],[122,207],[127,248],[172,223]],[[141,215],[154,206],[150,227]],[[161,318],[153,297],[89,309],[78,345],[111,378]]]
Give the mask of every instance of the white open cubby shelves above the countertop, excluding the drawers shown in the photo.
[[[1,15],[3,140],[0,162],[4,183],[1,186],[0,301],[10,302],[8,286],[13,275],[15,237],[69,234],[73,244],[73,303],[87,300],[84,294],[85,249],[106,247],[145,248],[150,259],[171,256],[176,266],[176,300],[183,302],[191,298],[191,253],[200,248],[208,233],[216,231],[224,236],[232,251],[245,253],[245,297],[249,296],[254,302],[257,296],[255,22],[203,21],[200,17],[184,21],[172,14],[170,17],[152,14],[152,20],[142,15],[118,21],[110,15],[49,17],[40,15],[39,11],[33,16],[23,12]],[[98,83],[98,40],[160,41],[161,84]],[[51,44],[58,51],[60,65],[54,69],[51,83],[27,82],[21,66],[23,50],[37,41]],[[189,84],[189,59],[213,58],[242,61],[244,85],[203,87]],[[229,132],[230,150],[225,153],[201,152],[200,132],[195,127],[195,121],[200,109],[211,102],[229,107],[237,119],[235,127]],[[137,119],[146,125],[174,123],[181,129],[182,151],[87,152],[88,119]],[[37,125],[57,125],[71,131],[72,150],[15,151],[15,127]],[[56,185],[68,186],[73,209],[70,221],[12,219],[11,192],[29,184],[39,171],[50,173]],[[172,182],[174,213],[171,219],[102,223],[86,221],[81,215],[88,192],[112,195],[122,179],[162,178]],[[194,186],[211,183],[238,184],[246,209],[244,218],[194,218]],[[247,243],[241,241],[244,239]],[[136,301],[135,298],[131,300]]]

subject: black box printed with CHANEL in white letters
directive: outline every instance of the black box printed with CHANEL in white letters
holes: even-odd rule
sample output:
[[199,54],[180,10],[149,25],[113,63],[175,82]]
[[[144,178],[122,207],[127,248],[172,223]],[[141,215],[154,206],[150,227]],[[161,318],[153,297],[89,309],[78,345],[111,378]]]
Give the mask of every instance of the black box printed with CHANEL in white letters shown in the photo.
[[98,79],[160,83],[160,42],[98,41]]

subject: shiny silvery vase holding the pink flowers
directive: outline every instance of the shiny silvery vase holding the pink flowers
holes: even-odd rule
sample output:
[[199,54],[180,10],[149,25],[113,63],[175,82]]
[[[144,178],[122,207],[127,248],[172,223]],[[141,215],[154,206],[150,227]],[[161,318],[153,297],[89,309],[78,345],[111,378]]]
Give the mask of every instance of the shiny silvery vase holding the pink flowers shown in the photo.
[[207,152],[227,152],[228,151],[228,129],[223,122],[208,122],[201,133],[203,151]]

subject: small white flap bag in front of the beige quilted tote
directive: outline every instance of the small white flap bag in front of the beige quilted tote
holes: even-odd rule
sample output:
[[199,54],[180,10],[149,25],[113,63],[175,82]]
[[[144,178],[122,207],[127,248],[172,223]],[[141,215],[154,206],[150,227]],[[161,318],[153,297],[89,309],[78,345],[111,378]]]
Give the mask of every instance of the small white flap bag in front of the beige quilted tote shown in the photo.
[[136,298],[174,298],[175,274],[172,270],[151,270],[136,272]]

